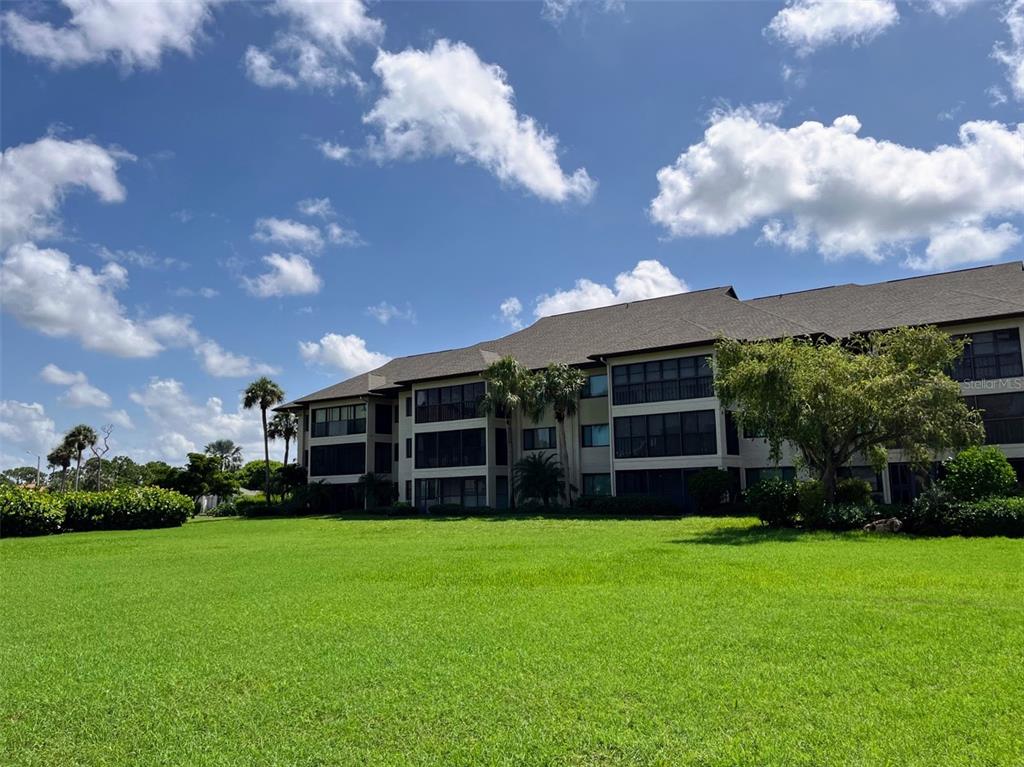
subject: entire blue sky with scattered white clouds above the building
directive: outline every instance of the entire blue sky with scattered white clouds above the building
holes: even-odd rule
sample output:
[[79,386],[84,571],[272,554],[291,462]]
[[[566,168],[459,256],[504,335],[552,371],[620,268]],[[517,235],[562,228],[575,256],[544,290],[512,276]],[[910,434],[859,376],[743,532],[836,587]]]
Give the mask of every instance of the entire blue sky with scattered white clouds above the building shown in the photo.
[[256,458],[261,372],[1024,257],[1019,1],[79,5],[3,17],[4,466]]

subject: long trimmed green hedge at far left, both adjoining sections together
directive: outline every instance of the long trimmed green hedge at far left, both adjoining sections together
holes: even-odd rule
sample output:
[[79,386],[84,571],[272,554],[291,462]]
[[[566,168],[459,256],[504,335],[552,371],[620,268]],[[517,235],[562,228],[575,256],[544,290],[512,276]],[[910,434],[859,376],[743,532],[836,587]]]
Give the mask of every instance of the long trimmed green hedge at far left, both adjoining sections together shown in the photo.
[[63,496],[18,487],[0,493],[0,536],[177,527],[191,499],[162,487],[119,487]]

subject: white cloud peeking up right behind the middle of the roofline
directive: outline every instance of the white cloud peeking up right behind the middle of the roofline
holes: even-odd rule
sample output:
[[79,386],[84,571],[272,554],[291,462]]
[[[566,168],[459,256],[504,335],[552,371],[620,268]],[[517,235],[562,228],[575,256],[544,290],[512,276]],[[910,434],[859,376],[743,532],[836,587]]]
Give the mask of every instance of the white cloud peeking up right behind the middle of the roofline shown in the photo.
[[[686,283],[673,274],[660,261],[638,261],[630,271],[621,272],[615,278],[613,288],[581,278],[569,290],[559,290],[551,295],[541,296],[537,299],[534,314],[538,317],[563,314],[566,311],[671,296],[688,290]],[[505,313],[506,303],[502,304],[502,313]],[[510,308],[514,309],[515,306],[512,305]]]

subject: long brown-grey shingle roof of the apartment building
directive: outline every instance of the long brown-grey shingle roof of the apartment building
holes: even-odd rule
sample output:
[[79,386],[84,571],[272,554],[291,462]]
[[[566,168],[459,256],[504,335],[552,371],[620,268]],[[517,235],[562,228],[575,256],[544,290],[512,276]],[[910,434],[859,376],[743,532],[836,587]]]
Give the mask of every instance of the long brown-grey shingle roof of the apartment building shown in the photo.
[[1014,261],[873,285],[784,293],[740,301],[730,287],[542,317],[472,346],[398,357],[287,406],[366,395],[413,381],[479,373],[506,354],[528,368],[586,365],[599,356],[709,343],[943,325],[1024,313],[1024,263]]

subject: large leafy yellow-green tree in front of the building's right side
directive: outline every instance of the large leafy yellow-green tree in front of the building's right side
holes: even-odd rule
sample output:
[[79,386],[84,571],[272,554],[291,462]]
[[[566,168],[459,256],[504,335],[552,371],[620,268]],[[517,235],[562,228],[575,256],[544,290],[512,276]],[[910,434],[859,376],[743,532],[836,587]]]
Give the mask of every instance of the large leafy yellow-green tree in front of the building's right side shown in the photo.
[[937,328],[898,328],[844,341],[742,342],[715,348],[715,392],[737,421],[764,434],[778,461],[785,442],[836,497],[840,467],[888,450],[925,466],[979,442],[981,421],[948,371],[964,341]]

